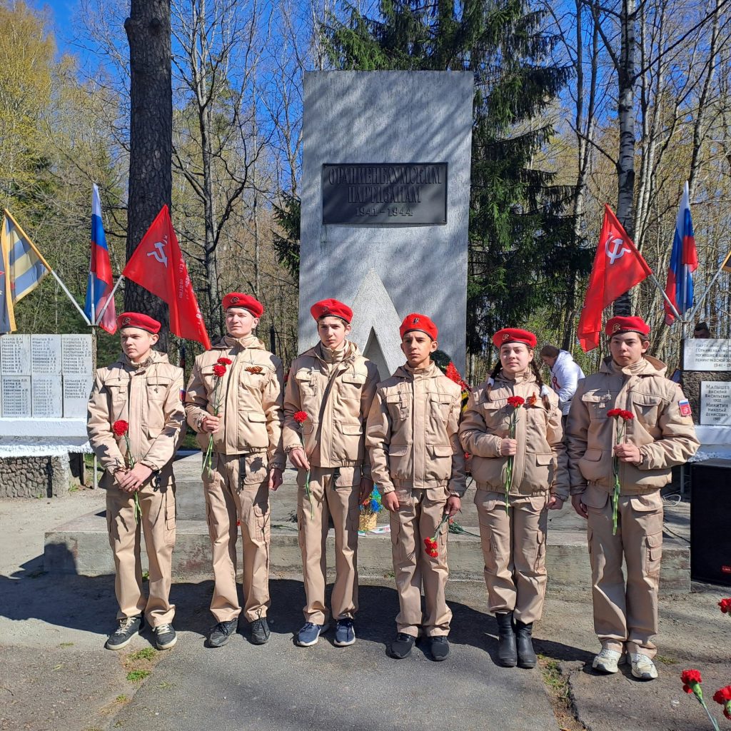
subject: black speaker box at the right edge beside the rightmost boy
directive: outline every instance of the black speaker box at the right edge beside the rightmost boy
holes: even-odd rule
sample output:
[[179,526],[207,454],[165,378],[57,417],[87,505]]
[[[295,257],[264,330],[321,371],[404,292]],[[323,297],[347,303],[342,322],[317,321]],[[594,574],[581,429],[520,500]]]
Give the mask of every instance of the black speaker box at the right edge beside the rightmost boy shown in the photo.
[[731,586],[731,460],[690,466],[690,575]]

